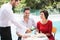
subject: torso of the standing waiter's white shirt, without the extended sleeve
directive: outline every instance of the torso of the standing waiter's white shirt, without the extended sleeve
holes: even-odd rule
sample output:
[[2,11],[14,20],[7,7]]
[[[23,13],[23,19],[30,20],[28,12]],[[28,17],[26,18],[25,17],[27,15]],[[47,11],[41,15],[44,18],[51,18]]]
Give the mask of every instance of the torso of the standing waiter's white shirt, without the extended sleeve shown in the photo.
[[3,4],[0,9],[0,27],[9,26],[9,21],[12,20],[12,6],[10,3]]

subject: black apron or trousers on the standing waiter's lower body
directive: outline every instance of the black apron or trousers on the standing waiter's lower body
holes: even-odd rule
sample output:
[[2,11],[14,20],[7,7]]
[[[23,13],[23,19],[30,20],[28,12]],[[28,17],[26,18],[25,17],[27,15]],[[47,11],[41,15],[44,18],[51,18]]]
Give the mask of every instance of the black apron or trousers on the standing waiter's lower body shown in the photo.
[[0,27],[1,40],[12,40],[10,26]]

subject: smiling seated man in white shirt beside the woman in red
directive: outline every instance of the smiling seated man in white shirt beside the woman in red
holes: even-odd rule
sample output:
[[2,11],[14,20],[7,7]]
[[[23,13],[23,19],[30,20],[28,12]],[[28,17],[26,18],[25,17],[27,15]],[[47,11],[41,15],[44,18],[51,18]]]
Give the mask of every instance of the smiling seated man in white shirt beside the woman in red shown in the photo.
[[[32,18],[30,18],[29,17],[30,16],[30,8],[25,8],[24,9],[24,16],[23,16],[23,20],[20,22],[20,24],[23,26],[23,27],[27,27],[27,28],[29,28],[30,29],[30,31],[28,31],[27,30],[27,32],[25,32],[25,33],[29,33],[29,32],[31,32],[31,28],[32,28],[32,26],[33,27],[36,27],[35,26],[35,22],[34,22],[34,20],[32,19]],[[18,28],[18,27],[17,27]],[[19,28],[18,28],[19,29]],[[19,34],[19,32],[22,32],[22,31],[19,31],[19,30],[17,30],[18,32],[17,32],[17,35],[18,35],[18,40],[21,40],[21,34]],[[19,36],[19,35],[21,35],[21,36]],[[26,35],[25,35],[25,37],[26,37]]]

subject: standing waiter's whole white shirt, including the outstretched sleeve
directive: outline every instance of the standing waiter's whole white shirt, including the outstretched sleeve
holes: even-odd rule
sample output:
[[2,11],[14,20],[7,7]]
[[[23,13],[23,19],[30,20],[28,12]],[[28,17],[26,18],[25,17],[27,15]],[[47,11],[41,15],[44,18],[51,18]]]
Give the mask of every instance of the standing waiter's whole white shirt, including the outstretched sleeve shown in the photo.
[[[17,21],[14,19],[13,11],[12,11],[12,5],[10,3],[3,4],[0,8],[0,27],[6,27],[10,26],[9,22],[12,22],[14,25],[16,25],[23,33],[26,31],[26,27],[22,27],[20,23],[17,23]],[[18,29],[19,30],[19,29]]]

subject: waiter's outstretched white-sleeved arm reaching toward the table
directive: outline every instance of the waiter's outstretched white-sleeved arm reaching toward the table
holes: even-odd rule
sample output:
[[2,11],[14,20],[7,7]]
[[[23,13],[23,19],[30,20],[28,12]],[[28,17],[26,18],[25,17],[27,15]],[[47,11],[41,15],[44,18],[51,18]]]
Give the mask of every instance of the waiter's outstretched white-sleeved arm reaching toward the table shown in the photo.
[[[21,24],[16,21],[14,15],[13,15],[13,11],[12,10],[6,9],[4,11],[5,11],[5,16],[6,16],[7,20],[11,21],[15,26],[17,26],[19,28],[22,28]],[[25,27],[24,30],[28,30],[28,29]]]

